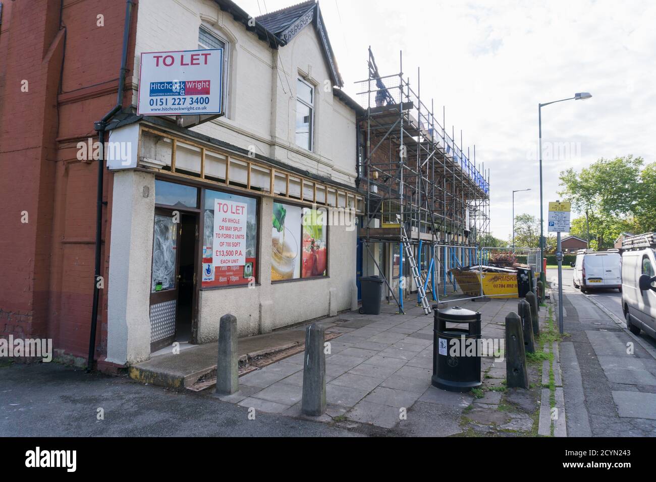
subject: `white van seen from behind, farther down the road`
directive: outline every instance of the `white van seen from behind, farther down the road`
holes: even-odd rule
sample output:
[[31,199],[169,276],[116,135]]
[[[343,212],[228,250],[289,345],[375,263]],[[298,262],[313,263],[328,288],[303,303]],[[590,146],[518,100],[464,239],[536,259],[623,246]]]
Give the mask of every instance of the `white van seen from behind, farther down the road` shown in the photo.
[[588,251],[577,253],[573,284],[586,292],[593,288],[610,288],[622,291],[622,257],[619,250]]

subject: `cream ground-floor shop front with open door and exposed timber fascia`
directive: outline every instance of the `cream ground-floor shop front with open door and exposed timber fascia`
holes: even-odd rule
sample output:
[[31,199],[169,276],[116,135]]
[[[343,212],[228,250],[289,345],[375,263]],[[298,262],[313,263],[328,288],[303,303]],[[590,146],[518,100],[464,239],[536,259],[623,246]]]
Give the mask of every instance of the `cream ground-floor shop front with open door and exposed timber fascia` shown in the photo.
[[357,307],[355,188],[192,134],[113,133],[138,155],[113,170],[112,363],[215,341],[226,313],[249,336]]

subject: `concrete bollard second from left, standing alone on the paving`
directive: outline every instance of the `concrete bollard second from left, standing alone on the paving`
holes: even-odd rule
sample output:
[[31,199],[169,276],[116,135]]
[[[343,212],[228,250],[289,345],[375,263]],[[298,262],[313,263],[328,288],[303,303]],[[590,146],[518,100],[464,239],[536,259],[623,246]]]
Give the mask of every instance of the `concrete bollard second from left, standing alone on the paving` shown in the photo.
[[300,411],[319,416],[326,411],[326,355],[323,353],[323,327],[313,323],[305,329],[303,359],[303,399]]

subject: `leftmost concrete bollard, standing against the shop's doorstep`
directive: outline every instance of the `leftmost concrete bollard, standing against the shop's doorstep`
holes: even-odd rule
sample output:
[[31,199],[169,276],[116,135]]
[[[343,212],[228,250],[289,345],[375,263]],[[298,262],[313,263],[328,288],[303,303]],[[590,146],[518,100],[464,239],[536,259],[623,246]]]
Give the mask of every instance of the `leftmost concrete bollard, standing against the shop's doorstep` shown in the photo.
[[237,318],[223,315],[218,325],[218,358],[216,360],[216,395],[232,395],[239,390],[239,357],[237,356]]

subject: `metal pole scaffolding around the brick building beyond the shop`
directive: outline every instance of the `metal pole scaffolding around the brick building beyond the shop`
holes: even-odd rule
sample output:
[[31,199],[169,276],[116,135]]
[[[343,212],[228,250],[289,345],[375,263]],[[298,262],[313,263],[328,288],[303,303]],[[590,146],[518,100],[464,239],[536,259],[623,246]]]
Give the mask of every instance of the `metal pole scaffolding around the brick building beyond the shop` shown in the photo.
[[432,275],[433,280],[445,280],[444,285],[447,279],[453,281],[449,268],[484,263],[488,251],[482,243],[490,223],[489,169],[477,166],[476,146],[473,157],[470,148],[465,151],[462,131],[459,144],[455,128],[447,132],[445,108],[440,123],[433,100],[430,108],[422,102],[419,68],[416,92],[409,77],[404,78],[402,52],[398,73],[380,75],[371,48],[367,66],[367,79],[356,82],[364,109],[358,121],[363,137],[358,186],[365,194],[359,238],[403,313],[403,286],[397,297],[394,280],[375,260],[371,243],[400,244],[400,277],[403,242],[413,245],[419,262],[422,245],[428,245],[425,256],[430,264],[426,260],[422,281]]

